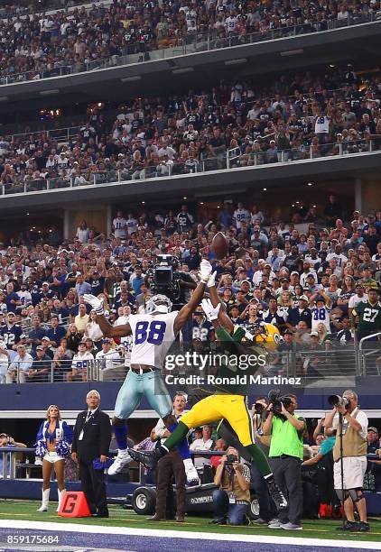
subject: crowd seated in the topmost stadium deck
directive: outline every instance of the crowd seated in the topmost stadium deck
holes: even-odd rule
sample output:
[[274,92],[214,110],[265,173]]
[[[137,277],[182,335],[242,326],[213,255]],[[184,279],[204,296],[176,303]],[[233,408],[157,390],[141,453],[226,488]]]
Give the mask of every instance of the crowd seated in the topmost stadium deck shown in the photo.
[[[280,36],[324,31],[340,24],[363,23],[376,17],[379,0],[361,3],[287,2],[207,2],[187,0],[138,0],[131,5],[122,0],[111,5],[84,6],[53,14],[16,15],[0,22],[3,51],[2,77],[7,82],[53,77],[86,70],[95,60],[140,53],[149,59],[149,51],[195,41],[215,39],[214,47],[244,43],[256,33]],[[23,74],[27,73],[27,75]]]

